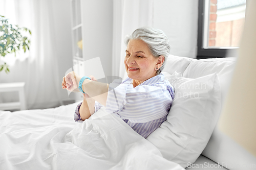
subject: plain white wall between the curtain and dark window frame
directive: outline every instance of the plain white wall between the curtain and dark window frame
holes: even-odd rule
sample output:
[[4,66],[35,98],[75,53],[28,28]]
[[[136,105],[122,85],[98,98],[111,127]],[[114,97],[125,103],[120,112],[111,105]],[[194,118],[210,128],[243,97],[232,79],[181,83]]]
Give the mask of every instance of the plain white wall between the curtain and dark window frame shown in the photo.
[[198,0],[155,0],[153,27],[169,37],[170,54],[196,58]]

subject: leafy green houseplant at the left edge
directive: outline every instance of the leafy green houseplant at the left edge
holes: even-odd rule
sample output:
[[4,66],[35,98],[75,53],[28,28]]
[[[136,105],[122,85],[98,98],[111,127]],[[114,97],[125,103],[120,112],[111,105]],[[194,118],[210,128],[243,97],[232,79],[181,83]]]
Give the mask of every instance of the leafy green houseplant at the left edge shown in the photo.
[[[14,53],[19,50],[29,50],[30,40],[23,36],[21,32],[31,31],[25,27],[18,27],[18,25],[11,25],[4,16],[0,15],[0,56],[5,57],[7,54]],[[0,65],[0,71],[5,70],[10,72],[6,63]]]

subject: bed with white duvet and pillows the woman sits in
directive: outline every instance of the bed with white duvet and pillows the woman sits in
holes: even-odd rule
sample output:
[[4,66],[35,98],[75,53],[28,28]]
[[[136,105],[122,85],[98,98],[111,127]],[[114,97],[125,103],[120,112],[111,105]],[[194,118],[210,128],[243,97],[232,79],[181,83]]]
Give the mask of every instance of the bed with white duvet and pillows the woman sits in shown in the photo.
[[78,103],[0,111],[0,169],[239,169],[229,165],[256,162],[216,127],[234,63],[170,55],[163,74],[176,96],[146,139],[104,107],[83,123],[73,119]]

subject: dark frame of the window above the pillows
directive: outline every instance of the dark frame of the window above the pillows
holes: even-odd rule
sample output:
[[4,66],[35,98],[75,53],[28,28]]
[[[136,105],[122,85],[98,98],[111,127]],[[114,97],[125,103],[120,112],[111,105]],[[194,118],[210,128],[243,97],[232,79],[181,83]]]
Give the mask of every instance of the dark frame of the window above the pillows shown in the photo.
[[[220,48],[203,48],[204,39],[204,8],[205,3],[210,0],[199,0],[198,2],[198,39],[197,39],[197,59],[205,58],[224,58],[234,57],[239,47],[220,47]],[[207,30],[208,31],[208,30]]]

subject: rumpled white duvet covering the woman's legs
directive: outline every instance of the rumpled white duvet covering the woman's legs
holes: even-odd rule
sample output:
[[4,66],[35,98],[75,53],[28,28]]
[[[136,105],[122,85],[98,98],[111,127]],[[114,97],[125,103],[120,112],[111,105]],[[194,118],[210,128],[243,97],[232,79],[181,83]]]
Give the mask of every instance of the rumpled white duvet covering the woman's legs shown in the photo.
[[183,169],[104,108],[74,122],[76,105],[0,111],[0,169]]

